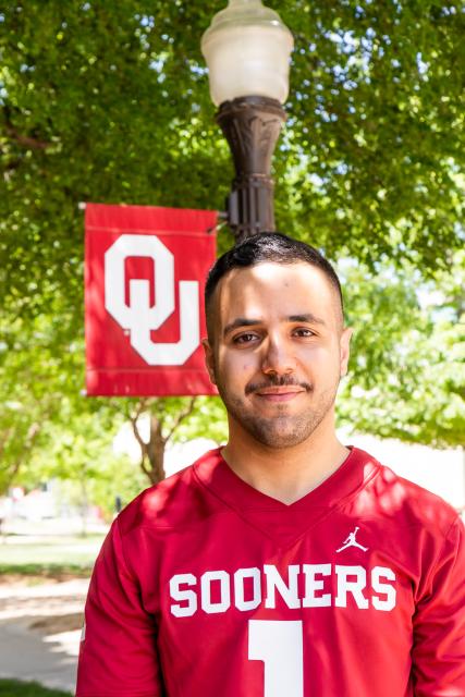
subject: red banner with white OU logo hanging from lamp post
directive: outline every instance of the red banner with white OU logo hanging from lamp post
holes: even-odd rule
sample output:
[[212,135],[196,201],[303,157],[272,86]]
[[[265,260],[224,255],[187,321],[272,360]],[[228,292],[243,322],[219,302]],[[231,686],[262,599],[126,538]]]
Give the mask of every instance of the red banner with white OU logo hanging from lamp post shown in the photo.
[[210,210],[87,204],[87,394],[217,394],[204,366]]

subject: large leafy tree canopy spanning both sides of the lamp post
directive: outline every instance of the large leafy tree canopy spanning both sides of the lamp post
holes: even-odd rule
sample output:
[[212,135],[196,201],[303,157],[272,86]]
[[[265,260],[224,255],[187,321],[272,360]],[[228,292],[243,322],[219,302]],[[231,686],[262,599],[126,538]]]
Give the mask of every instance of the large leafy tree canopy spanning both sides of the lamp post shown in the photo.
[[[452,0],[272,4],[296,45],[276,156],[279,227],[371,273],[389,264],[402,273],[407,259],[419,282],[451,268],[464,243],[463,9]],[[222,206],[232,164],[199,52],[218,9],[184,0],[1,4],[7,479],[34,445],[44,448],[45,423],[62,423],[70,407],[73,429],[81,412],[106,404],[84,405],[79,395],[77,204]],[[230,244],[222,231],[220,248]],[[389,380],[392,357],[376,355],[388,360]],[[212,419],[195,409],[191,420],[210,427]]]

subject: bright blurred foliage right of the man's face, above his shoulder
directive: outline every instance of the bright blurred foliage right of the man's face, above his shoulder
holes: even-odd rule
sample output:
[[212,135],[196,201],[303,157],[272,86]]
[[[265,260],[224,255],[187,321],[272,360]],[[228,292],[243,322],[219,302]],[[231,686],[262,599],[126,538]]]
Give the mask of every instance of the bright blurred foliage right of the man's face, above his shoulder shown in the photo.
[[347,270],[355,335],[339,409],[344,426],[438,448],[465,445],[464,261],[457,254],[452,272],[426,286],[412,269],[375,279]]

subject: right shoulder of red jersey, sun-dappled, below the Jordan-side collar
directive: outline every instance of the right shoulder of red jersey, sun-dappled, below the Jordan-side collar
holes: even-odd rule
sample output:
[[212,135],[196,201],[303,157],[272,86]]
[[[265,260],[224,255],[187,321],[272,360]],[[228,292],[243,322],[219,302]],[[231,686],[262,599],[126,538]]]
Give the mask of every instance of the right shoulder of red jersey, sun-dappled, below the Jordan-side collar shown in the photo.
[[374,512],[393,517],[408,527],[419,525],[441,536],[448,535],[454,524],[461,523],[458,513],[441,497],[400,477],[391,467],[365,454],[377,465],[377,476],[369,484]]

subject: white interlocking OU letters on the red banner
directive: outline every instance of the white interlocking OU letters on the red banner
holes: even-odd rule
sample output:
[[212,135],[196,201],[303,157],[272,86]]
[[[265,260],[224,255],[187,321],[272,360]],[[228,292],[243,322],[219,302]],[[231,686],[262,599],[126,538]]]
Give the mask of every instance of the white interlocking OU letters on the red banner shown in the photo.
[[[155,298],[150,283],[130,280],[130,304],[125,301],[124,262],[129,257],[148,257],[155,265]],[[180,281],[181,338],[175,343],[156,343],[150,331],[159,329],[174,313],[174,256],[155,235],[121,235],[105,255],[105,307],[123,329],[131,345],[150,366],[181,366],[200,343],[198,281]]]

